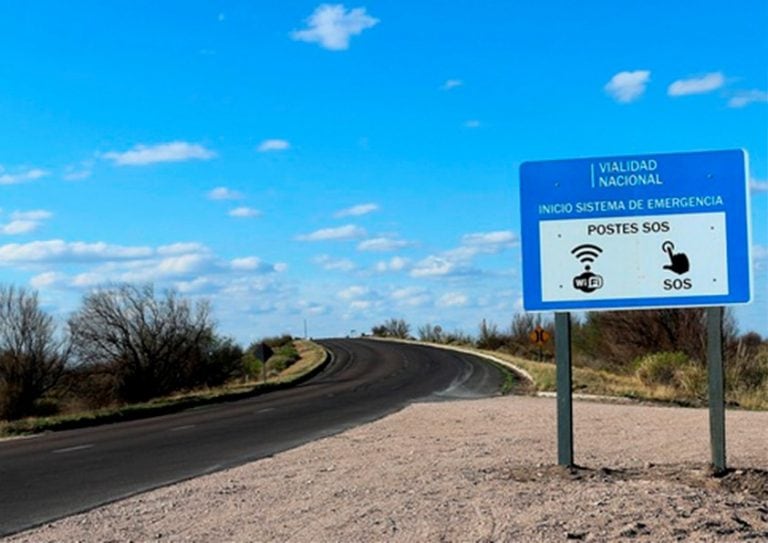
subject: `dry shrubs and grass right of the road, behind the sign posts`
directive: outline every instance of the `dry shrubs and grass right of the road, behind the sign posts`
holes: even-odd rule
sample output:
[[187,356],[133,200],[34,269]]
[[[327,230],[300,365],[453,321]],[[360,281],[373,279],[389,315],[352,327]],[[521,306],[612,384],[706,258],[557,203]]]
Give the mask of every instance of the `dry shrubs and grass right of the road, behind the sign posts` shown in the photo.
[[[527,371],[535,391],[555,390],[554,324],[541,315],[518,314],[506,329],[483,320],[474,336],[433,324],[418,327],[415,335],[411,329],[393,318],[372,334],[472,347]],[[549,340],[534,344],[536,329]],[[723,337],[728,405],[768,409],[768,340],[755,332],[739,334],[727,311]],[[590,312],[572,323],[571,342],[576,393],[706,404],[703,309]]]

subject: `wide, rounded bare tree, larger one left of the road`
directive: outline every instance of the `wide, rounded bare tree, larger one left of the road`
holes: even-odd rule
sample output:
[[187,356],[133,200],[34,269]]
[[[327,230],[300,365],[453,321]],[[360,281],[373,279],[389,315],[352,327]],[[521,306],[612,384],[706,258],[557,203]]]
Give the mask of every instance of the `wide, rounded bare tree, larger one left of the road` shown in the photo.
[[95,290],[69,321],[77,355],[107,364],[125,401],[143,401],[201,384],[215,336],[207,303],[191,304],[151,285]]

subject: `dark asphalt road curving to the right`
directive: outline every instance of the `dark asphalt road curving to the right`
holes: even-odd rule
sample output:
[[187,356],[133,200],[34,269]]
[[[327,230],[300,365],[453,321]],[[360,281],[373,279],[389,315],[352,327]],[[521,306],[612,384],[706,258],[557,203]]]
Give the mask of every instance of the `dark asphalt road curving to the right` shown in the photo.
[[470,355],[325,340],[312,380],[234,403],[0,441],[0,536],[138,492],[243,464],[424,399],[497,394],[503,375]]

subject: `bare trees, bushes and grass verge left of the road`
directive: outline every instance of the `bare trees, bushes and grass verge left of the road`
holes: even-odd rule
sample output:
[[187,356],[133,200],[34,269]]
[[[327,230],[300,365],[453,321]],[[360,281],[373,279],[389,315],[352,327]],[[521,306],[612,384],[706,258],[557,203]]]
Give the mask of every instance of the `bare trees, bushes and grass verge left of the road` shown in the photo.
[[151,285],[93,290],[59,327],[36,292],[0,285],[0,436],[260,394],[324,360],[320,346],[287,334],[241,347],[217,332],[206,302]]

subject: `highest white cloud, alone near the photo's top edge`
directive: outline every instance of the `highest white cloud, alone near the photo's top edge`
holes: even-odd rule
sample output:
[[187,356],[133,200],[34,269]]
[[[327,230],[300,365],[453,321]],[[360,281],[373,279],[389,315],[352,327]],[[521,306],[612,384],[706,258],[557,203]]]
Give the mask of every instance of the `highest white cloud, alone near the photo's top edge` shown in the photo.
[[343,51],[349,48],[352,36],[372,28],[379,20],[368,15],[365,8],[347,11],[342,4],[321,4],[306,22],[306,29],[291,32],[292,39],[317,43],[331,51]]

